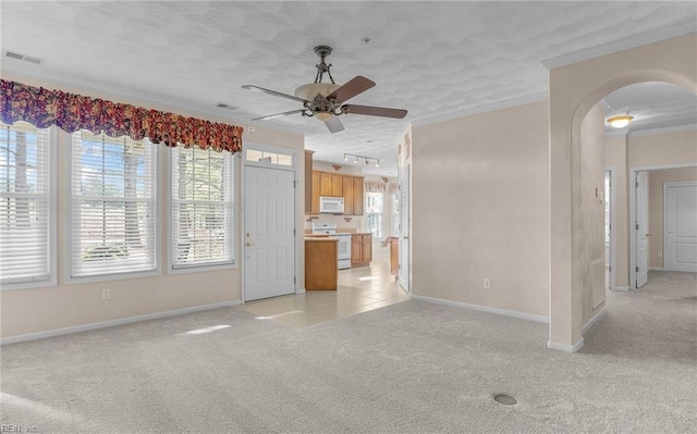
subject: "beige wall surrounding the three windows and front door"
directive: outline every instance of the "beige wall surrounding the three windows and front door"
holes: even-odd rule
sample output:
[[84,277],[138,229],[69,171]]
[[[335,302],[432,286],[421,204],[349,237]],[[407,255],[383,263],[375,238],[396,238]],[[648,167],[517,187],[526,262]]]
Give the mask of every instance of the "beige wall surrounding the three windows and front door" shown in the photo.
[[[65,91],[77,92],[91,97],[110,99],[119,102],[133,103],[154,108],[157,110],[166,110],[185,115],[195,115],[208,119],[215,122],[233,123],[231,120],[216,117],[212,115],[204,115],[187,111],[185,109],[163,107],[161,104],[151,103],[136,99],[129,99],[119,95],[109,95],[106,92],[96,92],[90,89],[69,88],[61,85],[54,85],[30,77],[17,77],[3,74],[3,78],[13,79],[28,85],[45,86],[47,88],[56,88]],[[118,321],[138,315],[151,315],[159,312],[173,310],[186,310],[189,308],[205,307],[207,305],[217,303],[234,303],[240,302],[242,293],[241,269],[227,269],[220,271],[195,272],[183,274],[167,273],[167,224],[168,218],[166,210],[168,209],[168,198],[162,197],[162,208],[160,213],[160,237],[161,255],[160,266],[161,275],[154,277],[127,278],[118,281],[103,281],[94,283],[71,284],[65,275],[65,257],[63,252],[66,247],[64,228],[68,216],[68,179],[70,176],[69,164],[66,160],[66,150],[70,147],[70,135],[57,129],[59,133],[59,183],[58,183],[58,286],[45,288],[29,288],[16,290],[3,290],[0,293],[0,337],[3,339],[9,337],[17,337],[21,335],[46,333],[60,328],[84,326],[87,324]],[[302,135],[278,133],[265,128],[257,127],[256,132],[245,131],[244,140],[256,141],[260,144],[276,145],[292,149],[297,149],[301,158],[301,164],[304,164],[303,147],[304,139]],[[159,158],[166,158],[169,149],[162,147],[159,149]],[[167,164],[160,164],[159,168],[166,168]],[[303,168],[301,166],[301,173]],[[235,239],[241,239],[241,203],[242,195],[240,181],[241,171],[237,171],[236,193],[237,214],[236,214],[236,232]],[[166,183],[168,174],[166,171],[160,172],[161,182]],[[303,176],[299,176],[302,191],[304,186]],[[161,195],[166,196],[166,195]],[[303,209],[304,198],[301,195],[297,215],[297,228],[303,227]],[[302,232],[301,232],[302,233]],[[237,243],[239,244],[239,243]],[[301,243],[302,244],[302,243]],[[301,248],[298,247],[298,250]],[[301,276],[298,282],[304,282],[302,272],[304,270],[304,250],[299,250],[299,270]],[[241,252],[237,247],[236,251],[237,264],[241,261]],[[111,293],[111,299],[102,301],[101,290],[108,288]]]

